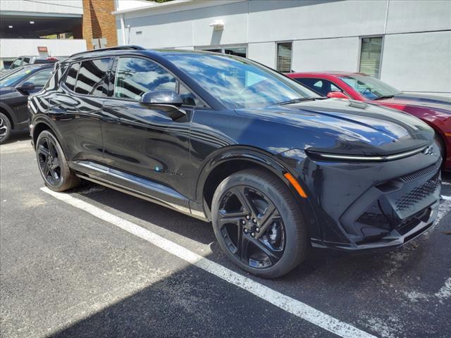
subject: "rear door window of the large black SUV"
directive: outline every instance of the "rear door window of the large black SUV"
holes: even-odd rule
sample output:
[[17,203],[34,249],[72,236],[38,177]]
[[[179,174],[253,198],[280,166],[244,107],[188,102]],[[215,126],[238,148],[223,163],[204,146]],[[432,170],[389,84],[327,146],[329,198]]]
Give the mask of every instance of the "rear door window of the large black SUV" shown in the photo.
[[104,79],[111,58],[83,61],[78,71],[75,92],[79,94],[106,95]]

